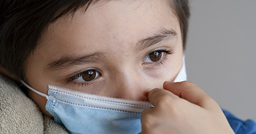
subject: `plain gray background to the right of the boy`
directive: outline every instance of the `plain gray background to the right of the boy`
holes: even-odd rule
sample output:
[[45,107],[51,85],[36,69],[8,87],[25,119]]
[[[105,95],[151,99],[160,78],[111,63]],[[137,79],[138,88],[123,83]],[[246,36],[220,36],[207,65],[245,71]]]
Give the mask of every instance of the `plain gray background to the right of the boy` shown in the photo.
[[256,1],[190,0],[188,79],[220,107],[256,121]]

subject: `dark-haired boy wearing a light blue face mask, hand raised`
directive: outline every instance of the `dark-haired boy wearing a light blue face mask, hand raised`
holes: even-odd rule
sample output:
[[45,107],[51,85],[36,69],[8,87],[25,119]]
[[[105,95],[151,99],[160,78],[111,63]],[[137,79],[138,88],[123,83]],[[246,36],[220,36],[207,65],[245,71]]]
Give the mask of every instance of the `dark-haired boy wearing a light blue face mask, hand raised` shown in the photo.
[[233,133],[198,86],[173,83],[187,1],[10,2],[1,18],[1,72],[70,133]]

